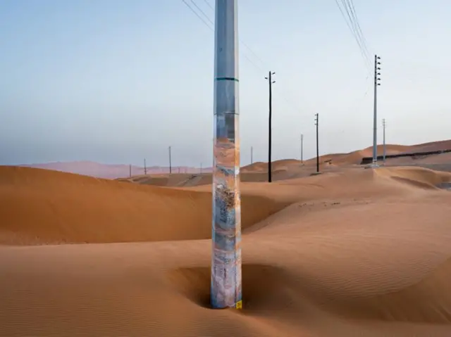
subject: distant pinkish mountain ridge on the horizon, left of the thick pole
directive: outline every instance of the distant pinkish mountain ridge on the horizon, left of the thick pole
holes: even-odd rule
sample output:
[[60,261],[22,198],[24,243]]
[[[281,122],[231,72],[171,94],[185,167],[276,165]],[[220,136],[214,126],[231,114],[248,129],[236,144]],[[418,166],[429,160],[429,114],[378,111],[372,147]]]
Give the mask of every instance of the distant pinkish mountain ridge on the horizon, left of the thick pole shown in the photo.
[[[20,165],[25,167],[37,167],[46,170],[54,170],[61,172],[69,172],[76,174],[83,174],[91,177],[116,179],[122,177],[129,177],[130,170],[132,176],[144,174],[144,167],[132,165],[110,165],[95,163],[92,161],[74,161],[74,162],[55,162],[55,163],[38,163],[31,165]],[[200,172],[198,167],[172,167],[173,173],[197,173]],[[211,167],[202,169],[202,172],[211,172]],[[169,167],[151,166],[147,167],[147,174],[155,173],[169,173]]]

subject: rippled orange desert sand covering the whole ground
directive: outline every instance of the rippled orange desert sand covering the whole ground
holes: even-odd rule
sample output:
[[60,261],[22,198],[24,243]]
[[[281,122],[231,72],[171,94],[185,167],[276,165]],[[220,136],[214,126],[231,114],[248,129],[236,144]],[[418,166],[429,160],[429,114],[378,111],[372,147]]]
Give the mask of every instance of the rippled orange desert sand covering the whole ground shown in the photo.
[[449,337],[451,173],[368,155],[242,168],[242,310],[209,308],[211,175],[0,167],[0,336]]

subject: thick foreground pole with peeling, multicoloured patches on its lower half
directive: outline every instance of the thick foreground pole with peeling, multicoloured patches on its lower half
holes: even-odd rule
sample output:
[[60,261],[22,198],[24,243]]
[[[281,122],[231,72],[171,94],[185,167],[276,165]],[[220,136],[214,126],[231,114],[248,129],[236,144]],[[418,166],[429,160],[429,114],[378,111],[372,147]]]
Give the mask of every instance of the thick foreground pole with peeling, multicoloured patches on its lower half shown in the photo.
[[242,307],[237,0],[216,0],[211,306]]

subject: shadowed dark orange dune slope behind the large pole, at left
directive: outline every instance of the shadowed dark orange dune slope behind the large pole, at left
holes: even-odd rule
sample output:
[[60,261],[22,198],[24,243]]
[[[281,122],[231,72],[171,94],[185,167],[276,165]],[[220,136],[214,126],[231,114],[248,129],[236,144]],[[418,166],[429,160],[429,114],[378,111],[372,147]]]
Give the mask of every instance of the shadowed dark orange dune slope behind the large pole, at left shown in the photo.
[[[126,184],[28,167],[0,167],[0,191],[0,243],[211,238],[208,192]],[[242,207],[242,227],[246,228],[285,207],[285,203],[244,191]]]

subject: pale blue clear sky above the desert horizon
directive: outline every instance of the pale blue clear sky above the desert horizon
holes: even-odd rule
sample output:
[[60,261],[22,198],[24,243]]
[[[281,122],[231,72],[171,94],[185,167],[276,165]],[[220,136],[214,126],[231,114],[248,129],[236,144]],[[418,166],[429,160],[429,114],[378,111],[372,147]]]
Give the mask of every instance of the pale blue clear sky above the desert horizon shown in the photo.
[[[268,70],[275,160],[299,158],[301,133],[314,156],[315,113],[321,153],[370,146],[372,79],[335,1],[238,4],[240,40],[264,61],[240,45],[242,165],[251,146],[266,160]],[[451,2],[354,4],[383,62],[388,142],[451,138]],[[167,165],[171,145],[173,165],[211,165],[213,61],[213,32],[181,0],[0,0],[0,164]]]

